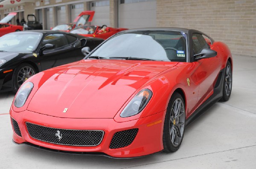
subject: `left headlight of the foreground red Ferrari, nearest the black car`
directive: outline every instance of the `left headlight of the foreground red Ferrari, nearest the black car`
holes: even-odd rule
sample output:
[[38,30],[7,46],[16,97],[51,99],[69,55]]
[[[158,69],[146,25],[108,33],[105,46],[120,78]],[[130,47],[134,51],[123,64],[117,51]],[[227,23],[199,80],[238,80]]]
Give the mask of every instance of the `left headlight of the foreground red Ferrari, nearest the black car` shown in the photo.
[[25,104],[33,87],[34,84],[32,82],[27,82],[20,88],[14,100],[14,105],[16,107],[22,107]]

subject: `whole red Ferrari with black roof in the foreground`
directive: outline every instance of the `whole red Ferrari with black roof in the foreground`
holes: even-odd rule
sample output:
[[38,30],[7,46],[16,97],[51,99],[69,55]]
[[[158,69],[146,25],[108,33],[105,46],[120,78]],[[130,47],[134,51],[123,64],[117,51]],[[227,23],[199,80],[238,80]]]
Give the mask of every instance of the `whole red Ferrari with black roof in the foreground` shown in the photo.
[[197,113],[230,98],[232,63],[227,45],[201,31],[122,31],[20,87],[13,141],[114,158],[175,152]]

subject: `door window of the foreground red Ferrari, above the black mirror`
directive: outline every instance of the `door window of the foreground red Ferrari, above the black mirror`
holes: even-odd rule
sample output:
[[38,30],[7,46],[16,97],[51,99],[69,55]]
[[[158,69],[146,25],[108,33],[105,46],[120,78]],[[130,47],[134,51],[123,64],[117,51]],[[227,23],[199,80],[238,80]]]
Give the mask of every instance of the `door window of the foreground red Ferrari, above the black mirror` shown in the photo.
[[201,34],[193,34],[192,43],[194,54],[200,54],[203,49],[209,48],[209,45]]

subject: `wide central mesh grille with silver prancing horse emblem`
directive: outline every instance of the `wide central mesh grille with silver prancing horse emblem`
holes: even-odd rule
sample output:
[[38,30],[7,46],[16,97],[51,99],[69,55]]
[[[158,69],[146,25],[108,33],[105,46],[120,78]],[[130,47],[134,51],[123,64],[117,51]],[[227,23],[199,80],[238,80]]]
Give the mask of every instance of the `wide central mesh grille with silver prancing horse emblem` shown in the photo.
[[65,130],[39,126],[26,122],[29,135],[36,140],[68,146],[97,146],[101,143],[102,130]]

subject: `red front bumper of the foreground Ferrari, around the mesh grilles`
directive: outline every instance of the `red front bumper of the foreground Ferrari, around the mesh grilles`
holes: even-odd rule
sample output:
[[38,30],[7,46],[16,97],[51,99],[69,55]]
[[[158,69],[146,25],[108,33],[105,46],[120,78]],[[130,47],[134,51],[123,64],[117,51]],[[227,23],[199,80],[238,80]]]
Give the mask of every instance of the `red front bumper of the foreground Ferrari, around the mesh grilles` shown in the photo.
[[[101,154],[115,158],[131,158],[149,155],[163,150],[164,111],[137,120],[116,122],[113,118],[58,118],[25,110],[15,112],[10,110],[11,118],[17,121],[21,137],[13,133],[13,141],[17,144],[28,144],[44,147],[44,149],[74,152],[75,154]],[[47,143],[32,138],[26,128],[26,122],[67,130],[103,130],[105,132],[101,143],[97,146],[67,146]],[[157,123],[156,123],[157,122]],[[116,132],[138,128],[134,141],[123,148],[110,149],[110,143]],[[53,133],[54,135],[55,133]]]

